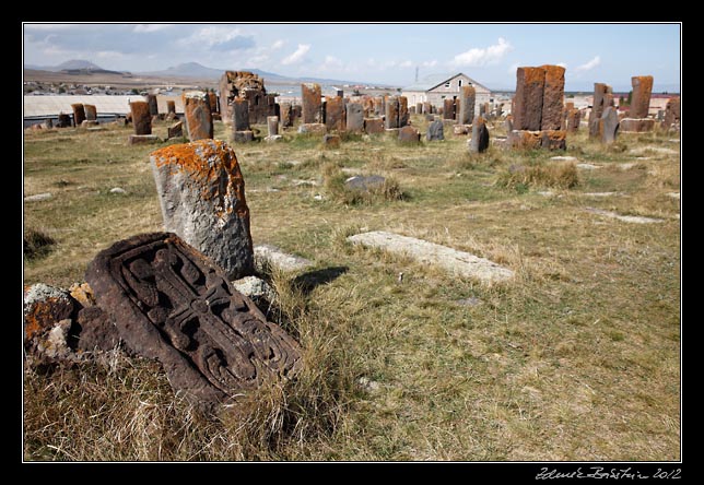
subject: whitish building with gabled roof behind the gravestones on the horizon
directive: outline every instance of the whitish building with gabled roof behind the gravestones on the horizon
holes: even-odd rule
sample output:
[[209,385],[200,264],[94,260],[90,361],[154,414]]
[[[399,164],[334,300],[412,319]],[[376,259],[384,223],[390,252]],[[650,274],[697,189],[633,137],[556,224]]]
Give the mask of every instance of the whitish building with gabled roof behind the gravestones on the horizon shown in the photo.
[[461,72],[457,74],[427,75],[422,81],[401,88],[401,96],[408,98],[409,106],[414,106],[416,103],[430,103],[433,106],[442,107],[444,99],[459,97],[459,91],[467,85],[474,87],[477,93],[476,106],[491,100],[492,95],[489,87]]

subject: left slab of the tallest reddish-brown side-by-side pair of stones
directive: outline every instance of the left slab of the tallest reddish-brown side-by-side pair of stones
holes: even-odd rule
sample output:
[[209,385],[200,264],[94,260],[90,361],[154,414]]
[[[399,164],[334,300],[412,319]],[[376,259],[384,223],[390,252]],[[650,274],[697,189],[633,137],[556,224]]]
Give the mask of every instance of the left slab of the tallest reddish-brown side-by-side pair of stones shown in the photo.
[[518,68],[516,70],[516,95],[514,96],[514,128],[540,130],[542,97],[545,86],[543,68]]

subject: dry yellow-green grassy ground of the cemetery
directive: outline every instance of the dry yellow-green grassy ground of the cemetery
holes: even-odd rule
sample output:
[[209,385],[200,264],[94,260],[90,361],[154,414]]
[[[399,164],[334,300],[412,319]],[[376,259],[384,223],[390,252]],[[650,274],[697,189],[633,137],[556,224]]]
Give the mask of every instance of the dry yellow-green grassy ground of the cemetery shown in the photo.
[[[294,131],[234,145],[255,245],[315,263],[263,270],[279,294],[269,319],[300,340],[304,370],[208,419],[153,362],[26,368],[24,458],[681,459],[678,135],[623,133],[606,147],[583,126],[566,152],[470,155],[466,135],[445,131],[420,145],[350,134],[330,149]],[[99,250],[162,230],[149,153],[183,140],[128,146],[131,132],[25,134],[24,194],[51,193],[24,203],[37,242],[25,284],[81,283]],[[220,121],[215,138],[228,140]],[[355,174],[387,185],[349,192]],[[366,230],[468,251],[515,277],[486,285],[347,241]]]

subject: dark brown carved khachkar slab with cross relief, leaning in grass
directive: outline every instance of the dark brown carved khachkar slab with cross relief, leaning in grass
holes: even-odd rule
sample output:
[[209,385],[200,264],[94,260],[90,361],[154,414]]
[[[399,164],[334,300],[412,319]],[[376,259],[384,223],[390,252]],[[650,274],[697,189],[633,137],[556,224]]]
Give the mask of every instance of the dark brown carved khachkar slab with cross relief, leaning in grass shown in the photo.
[[207,409],[301,366],[298,343],[175,234],[118,241],[85,279],[125,344],[157,359],[172,388]]

